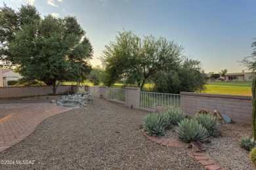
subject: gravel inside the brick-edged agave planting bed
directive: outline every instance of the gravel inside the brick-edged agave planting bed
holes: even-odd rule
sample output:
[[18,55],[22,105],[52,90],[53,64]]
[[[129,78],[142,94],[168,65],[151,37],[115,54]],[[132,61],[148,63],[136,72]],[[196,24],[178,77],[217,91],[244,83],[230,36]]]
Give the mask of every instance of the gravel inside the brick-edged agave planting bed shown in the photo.
[[[211,143],[205,143],[207,157],[215,160],[225,169],[255,169],[249,160],[249,151],[240,146],[242,137],[252,136],[251,126],[232,123],[221,124],[219,128],[223,137],[211,137]],[[166,140],[179,139],[175,129],[177,129],[176,126],[167,130],[162,138]]]

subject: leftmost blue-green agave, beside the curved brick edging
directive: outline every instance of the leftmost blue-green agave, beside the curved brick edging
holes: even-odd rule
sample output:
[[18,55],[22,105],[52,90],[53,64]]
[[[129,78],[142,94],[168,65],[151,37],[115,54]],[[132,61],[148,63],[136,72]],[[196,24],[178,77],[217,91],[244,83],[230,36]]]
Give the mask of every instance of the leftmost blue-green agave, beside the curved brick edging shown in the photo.
[[150,113],[144,116],[142,125],[148,135],[162,136],[165,132],[166,121],[163,119],[163,115]]

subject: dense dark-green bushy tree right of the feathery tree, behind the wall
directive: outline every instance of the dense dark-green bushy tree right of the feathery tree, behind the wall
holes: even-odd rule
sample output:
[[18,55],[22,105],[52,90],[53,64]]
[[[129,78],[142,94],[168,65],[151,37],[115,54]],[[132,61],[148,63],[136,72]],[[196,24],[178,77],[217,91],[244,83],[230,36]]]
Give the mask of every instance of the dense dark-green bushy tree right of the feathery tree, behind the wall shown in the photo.
[[203,92],[206,78],[201,62],[184,58],[181,65],[154,78],[154,88],[160,93]]

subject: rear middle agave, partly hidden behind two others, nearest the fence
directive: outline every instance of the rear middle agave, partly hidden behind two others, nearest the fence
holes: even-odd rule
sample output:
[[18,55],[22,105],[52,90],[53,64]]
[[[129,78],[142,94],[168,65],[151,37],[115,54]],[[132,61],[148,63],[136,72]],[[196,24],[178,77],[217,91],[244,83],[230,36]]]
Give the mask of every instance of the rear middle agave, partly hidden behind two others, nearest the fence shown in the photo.
[[181,109],[172,108],[165,111],[165,114],[169,116],[169,121],[171,124],[177,125],[178,122],[181,122],[185,118],[184,112]]

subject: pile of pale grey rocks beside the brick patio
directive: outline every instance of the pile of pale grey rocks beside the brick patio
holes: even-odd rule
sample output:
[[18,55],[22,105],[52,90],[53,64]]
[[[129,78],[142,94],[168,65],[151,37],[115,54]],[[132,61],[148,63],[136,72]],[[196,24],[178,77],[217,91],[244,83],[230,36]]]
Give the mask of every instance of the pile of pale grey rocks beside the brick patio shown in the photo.
[[64,107],[86,107],[89,101],[93,102],[91,93],[77,92],[72,95],[63,95],[57,101],[52,101],[52,103]]

